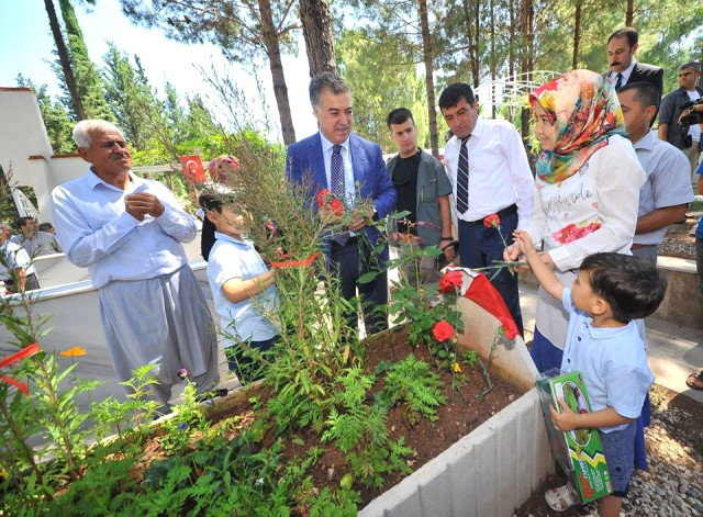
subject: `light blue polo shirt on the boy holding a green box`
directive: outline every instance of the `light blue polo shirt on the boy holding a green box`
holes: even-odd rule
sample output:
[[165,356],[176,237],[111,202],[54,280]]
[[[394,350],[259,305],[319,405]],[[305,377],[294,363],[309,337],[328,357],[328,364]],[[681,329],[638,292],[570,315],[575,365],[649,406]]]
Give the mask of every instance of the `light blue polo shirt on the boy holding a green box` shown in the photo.
[[[635,322],[617,328],[593,327],[593,318],[573,306],[571,289],[563,290],[569,326],[561,359],[561,372],[580,371],[591,411],[612,407],[626,418],[637,418],[655,378],[647,364],[647,351]],[[602,432],[626,425],[602,427]]]

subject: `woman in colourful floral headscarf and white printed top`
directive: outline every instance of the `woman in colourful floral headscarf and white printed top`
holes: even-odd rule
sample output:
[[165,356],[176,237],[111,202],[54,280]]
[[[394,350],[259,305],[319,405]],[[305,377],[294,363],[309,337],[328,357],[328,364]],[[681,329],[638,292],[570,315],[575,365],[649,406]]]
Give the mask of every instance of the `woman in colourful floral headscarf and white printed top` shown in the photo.
[[[610,80],[571,70],[529,98],[542,142],[535,207],[527,229],[543,241],[543,260],[565,285],[589,255],[629,252],[645,172],[627,139]],[[517,258],[511,246],[506,258]],[[539,290],[531,355],[539,371],[559,368],[568,315]]]

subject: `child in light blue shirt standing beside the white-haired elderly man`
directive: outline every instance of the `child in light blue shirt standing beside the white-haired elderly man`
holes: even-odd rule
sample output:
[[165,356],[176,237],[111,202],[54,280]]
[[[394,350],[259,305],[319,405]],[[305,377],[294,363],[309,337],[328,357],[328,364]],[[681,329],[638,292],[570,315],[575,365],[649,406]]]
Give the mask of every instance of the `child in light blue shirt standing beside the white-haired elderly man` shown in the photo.
[[230,371],[242,383],[261,379],[242,344],[259,352],[269,350],[278,329],[267,314],[278,308],[276,273],[267,268],[254,244],[245,236],[242,210],[227,196],[205,192],[199,198],[205,216],[215,226],[215,243],[208,258],[208,280],[220,315],[221,338]]

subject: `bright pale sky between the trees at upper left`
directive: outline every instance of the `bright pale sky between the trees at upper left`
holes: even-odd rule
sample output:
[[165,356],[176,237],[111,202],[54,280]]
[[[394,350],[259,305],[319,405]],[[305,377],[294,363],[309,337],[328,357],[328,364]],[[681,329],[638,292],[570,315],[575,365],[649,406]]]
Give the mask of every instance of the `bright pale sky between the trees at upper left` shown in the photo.
[[[107,42],[112,41],[122,53],[140,56],[152,86],[160,92],[164,91],[165,82],[169,81],[181,98],[199,93],[208,100],[210,87],[194,66],[208,70],[214,64],[217,69],[227,70],[247,97],[257,98],[256,80],[250,72],[227,63],[216,46],[185,45],[167,40],[158,29],[135,26],[122,14],[118,0],[98,0],[96,3],[91,12],[87,12],[78,2],[74,2],[94,64],[102,65],[102,56],[108,50]],[[60,19],[58,1],[54,0],[54,4]],[[35,85],[46,83],[49,94],[59,94],[58,79],[49,65],[54,59],[54,38],[43,0],[0,0],[0,48],[3,48],[0,58],[0,87],[15,87],[16,76],[22,74]],[[283,72],[298,139],[317,131],[308,100],[310,76],[304,48],[301,36],[299,55],[283,56]],[[281,141],[268,63],[259,68],[258,76],[265,88],[269,120],[277,128],[277,133],[270,137]],[[211,101],[210,105],[215,104]]]

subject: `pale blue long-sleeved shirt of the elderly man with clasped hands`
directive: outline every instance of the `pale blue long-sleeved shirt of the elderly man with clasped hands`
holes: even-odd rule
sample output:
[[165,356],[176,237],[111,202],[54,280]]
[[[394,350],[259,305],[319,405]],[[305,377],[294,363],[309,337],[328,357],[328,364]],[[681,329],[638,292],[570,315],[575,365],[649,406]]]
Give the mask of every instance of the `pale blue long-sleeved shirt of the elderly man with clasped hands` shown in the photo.
[[[105,183],[92,170],[52,192],[56,234],[66,257],[88,268],[92,284],[145,280],[169,274],[188,262],[180,243],[196,238],[193,218],[161,183],[130,173],[125,191]],[[159,217],[138,221],[125,210],[125,196],[147,192],[164,205]]]

